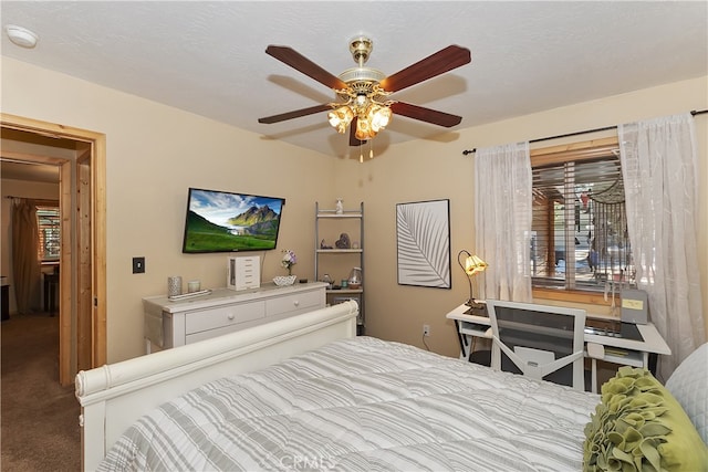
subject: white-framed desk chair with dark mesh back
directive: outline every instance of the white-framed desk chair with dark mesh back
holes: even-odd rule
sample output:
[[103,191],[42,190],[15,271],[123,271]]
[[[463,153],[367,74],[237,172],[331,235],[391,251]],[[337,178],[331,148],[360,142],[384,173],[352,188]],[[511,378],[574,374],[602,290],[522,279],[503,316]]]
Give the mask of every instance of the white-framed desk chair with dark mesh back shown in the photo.
[[491,367],[585,389],[585,311],[487,300]]

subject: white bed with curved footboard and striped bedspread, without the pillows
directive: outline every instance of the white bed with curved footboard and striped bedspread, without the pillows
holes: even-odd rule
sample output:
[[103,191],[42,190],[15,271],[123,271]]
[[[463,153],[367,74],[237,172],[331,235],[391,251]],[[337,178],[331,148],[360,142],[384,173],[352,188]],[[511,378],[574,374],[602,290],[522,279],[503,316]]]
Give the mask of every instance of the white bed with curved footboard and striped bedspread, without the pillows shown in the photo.
[[84,469],[583,469],[601,396],[357,337],[356,312],[80,374]]

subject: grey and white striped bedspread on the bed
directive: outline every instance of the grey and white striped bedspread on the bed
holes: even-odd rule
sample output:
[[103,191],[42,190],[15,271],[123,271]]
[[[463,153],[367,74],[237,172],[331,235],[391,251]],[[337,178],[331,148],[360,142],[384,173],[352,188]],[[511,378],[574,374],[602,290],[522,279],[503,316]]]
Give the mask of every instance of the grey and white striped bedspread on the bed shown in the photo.
[[101,470],[580,471],[597,402],[356,337],[163,405]]

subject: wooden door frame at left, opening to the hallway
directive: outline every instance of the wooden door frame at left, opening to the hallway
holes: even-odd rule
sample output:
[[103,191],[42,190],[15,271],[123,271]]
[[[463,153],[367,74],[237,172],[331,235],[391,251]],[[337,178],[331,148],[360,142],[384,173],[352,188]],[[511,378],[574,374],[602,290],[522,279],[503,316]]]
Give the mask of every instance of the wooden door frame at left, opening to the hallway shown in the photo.
[[0,126],[28,144],[51,148],[54,139],[71,148],[2,150],[3,158],[60,167],[59,381],[67,386],[79,370],[106,363],[105,135],[8,114]]

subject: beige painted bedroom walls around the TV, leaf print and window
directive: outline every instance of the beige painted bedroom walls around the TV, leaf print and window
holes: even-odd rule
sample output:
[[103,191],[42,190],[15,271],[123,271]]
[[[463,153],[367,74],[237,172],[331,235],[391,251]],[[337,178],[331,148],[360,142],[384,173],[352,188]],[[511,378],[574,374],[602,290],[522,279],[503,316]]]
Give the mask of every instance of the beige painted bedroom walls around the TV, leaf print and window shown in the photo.
[[[1,78],[3,112],[106,135],[110,361],[142,354],[140,298],[164,293],[168,275],[200,279],[202,286],[223,285],[223,255],[180,252],[188,187],[285,197],[279,249],[296,251],[301,276],[314,272],[314,202],[333,203],[336,197],[343,197],[345,206],[364,201],[367,334],[423,346],[426,323],[431,326],[430,348],[454,356],[457,338],[445,313],[459,305],[468,290],[455,256],[460,249],[473,250],[473,157],[462,156],[464,149],[708,108],[708,77],[702,77],[460,129],[439,141],[392,146],[361,165],[264,140],[7,57]],[[696,117],[700,201],[708,197],[707,123],[708,116]],[[395,206],[431,199],[450,200],[451,290],[403,286],[396,281]],[[698,216],[698,244],[708,313],[706,208]],[[145,274],[131,273],[136,255],[146,258]],[[278,252],[266,254],[263,280],[282,273],[279,260]]]

